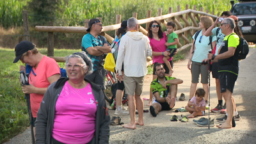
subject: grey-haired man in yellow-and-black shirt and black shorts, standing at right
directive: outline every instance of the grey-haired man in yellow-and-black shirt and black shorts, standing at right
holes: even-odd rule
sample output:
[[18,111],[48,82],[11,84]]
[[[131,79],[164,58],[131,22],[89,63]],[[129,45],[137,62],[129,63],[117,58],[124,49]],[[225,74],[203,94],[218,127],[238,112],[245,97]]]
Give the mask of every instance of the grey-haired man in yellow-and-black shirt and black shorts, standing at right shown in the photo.
[[204,60],[218,61],[220,88],[226,102],[228,115],[226,122],[218,126],[221,129],[230,129],[236,126],[233,90],[238,76],[239,49],[236,49],[236,47],[239,45],[239,36],[234,33],[235,26],[234,19],[230,17],[223,19],[220,28],[221,32],[226,36],[218,51],[218,55],[208,54],[208,59]]

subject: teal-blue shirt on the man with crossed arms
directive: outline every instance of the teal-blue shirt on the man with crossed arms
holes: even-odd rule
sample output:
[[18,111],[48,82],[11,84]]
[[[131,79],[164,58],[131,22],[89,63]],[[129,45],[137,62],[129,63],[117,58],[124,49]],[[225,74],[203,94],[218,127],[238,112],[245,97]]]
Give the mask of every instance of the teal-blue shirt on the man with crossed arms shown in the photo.
[[90,33],[87,33],[86,35],[83,36],[83,39],[82,39],[82,51],[86,52],[88,57],[92,60],[93,71],[98,70],[99,67],[100,68],[103,67],[104,54],[102,54],[101,56],[93,56],[93,55],[89,54],[89,52],[86,51],[86,49],[88,47],[103,46],[104,44],[108,44],[108,41],[106,40],[106,38],[104,36],[98,35],[97,38],[95,38]]

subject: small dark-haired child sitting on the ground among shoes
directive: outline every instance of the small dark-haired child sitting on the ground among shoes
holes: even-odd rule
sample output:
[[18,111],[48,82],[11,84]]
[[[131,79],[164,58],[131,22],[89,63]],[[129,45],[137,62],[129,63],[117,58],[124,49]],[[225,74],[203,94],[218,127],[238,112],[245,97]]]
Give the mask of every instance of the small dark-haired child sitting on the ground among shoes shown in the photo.
[[[194,118],[195,116],[204,116],[205,113],[205,100],[204,100],[205,91],[202,88],[196,90],[196,94],[188,102],[186,110],[191,113],[188,118]],[[192,108],[191,108],[192,106]]]

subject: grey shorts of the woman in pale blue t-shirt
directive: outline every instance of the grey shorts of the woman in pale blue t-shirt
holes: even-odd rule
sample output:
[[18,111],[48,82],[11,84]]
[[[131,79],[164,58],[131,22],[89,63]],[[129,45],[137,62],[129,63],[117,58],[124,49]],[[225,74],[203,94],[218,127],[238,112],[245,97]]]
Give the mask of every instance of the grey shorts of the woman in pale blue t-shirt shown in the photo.
[[192,61],[191,65],[191,74],[192,74],[192,83],[199,83],[199,75],[201,74],[201,83],[208,83],[208,65],[202,65],[202,63],[198,63]]

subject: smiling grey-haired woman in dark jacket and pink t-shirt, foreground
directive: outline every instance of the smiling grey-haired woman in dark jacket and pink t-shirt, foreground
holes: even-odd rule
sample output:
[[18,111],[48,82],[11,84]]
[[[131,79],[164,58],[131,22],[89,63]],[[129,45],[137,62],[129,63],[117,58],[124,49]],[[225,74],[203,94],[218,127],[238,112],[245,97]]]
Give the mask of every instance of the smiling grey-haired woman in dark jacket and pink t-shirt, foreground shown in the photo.
[[104,92],[84,76],[92,60],[75,52],[65,63],[67,77],[52,83],[36,118],[36,143],[108,143],[110,117]]

